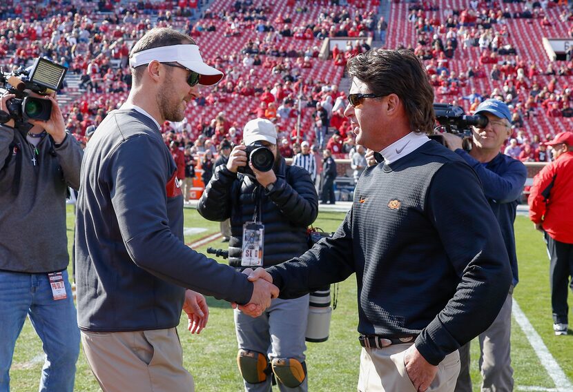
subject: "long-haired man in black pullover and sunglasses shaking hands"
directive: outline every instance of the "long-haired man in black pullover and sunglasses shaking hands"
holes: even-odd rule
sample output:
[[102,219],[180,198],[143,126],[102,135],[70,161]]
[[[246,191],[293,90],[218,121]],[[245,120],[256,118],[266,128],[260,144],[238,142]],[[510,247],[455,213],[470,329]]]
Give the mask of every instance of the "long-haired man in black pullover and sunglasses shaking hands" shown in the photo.
[[356,273],[358,391],[454,391],[457,350],[492,323],[512,282],[503,237],[474,170],[425,135],[434,92],[420,61],[376,50],[348,72],[344,115],[384,162],[362,174],[332,238],[255,275],[291,298]]

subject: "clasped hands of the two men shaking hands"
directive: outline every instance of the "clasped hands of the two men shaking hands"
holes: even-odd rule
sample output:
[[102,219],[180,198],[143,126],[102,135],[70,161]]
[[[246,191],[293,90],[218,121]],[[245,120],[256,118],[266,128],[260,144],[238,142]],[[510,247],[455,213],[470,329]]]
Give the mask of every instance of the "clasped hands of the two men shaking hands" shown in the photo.
[[243,273],[249,276],[250,282],[253,282],[253,295],[249,304],[232,304],[233,308],[238,307],[240,311],[251,317],[259,317],[266,308],[271,306],[271,300],[278,297],[278,287],[273,284],[271,274],[262,267],[258,267],[255,271],[252,268],[245,268]]

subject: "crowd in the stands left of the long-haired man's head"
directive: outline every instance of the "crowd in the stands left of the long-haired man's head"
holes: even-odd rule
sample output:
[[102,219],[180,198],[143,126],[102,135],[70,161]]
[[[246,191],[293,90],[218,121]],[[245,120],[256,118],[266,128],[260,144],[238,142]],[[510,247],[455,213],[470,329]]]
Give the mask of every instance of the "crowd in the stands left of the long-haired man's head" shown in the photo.
[[[353,7],[344,7],[348,5]],[[319,46],[325,37],[372,36],[376,6],[376,1],[327,6],[320,1],[289,0],[289,12],[276,13],[263,1],[247,0],[235,1],[229,8],[204,5],[202,18],[195,21],[195,9],[199,10],[201,3],[193,0],[8,1],[0,5],[0,63],[16,68],[47,57],[78,75],[79,90],[64,86],[61,92],[75,98],[64,108],[66,128],[82,140],[86,128],[97,127],[126,99],[131,86],[129,51],[146,30],[173,26],[197,39],[208,34],[244,35],[242,50],[230,55],[215,52],[206,58],[224,70],[226,77],[188,108],[185,121],[163,124],[166,143],[175,140],[180,146],[193,146],[195,152],[211,150],[214,155],[224,140],[239,143],[243,124],[233,115],[222,110],[210,118],[201,112],[215,103],[232,106],[242,99],[250,102],[250,117],[268,118],[277,124],[281,146],[295,151],[307,140],[318,142],[319,150],[329,148],[334,157],[343,157],[342,142],[327,144],[326,134],[336,130],[333,140],[347,139],[350,124],[342,115],[345,96],[338,91],[338,80],[313,79],[306,70],[321,61]],[[319,8],[324,12],[311,12]],[[306,12],[316,15],[315,19],[296,18]],[[294,19],[298,23],[293,23]],[[299,41],[307,43],[301,46]],[[340,52],[348,56],[368,49],[362,42]],[[273,75],[276,81],[260,80],[262,72]],[[299,115],[301,126],[297,128],[293,124]],[[211,145],[206,148],[206,143]]]

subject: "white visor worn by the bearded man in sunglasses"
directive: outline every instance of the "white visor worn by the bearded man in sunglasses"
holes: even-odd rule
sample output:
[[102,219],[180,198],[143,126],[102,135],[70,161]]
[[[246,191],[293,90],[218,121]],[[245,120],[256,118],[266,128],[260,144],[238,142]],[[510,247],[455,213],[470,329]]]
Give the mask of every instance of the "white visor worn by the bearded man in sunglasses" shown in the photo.
[[197,72],[200,76],[199,84],[211,86],[223,79],[223,72],[204,63],[199,46],[187,43],[184,45],[161,46],[141,52],[133,53],[129,57],[129,66],[135,68],[156,60],[160,63],[179,63],[180,65]]

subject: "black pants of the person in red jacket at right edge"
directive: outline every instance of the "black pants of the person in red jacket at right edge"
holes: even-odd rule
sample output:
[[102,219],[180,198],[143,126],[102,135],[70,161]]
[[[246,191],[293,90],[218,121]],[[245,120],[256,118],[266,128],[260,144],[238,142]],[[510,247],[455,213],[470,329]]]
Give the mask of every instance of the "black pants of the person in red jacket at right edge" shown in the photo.
[[555,324],[568,324],[567,286],[573,290],[573,244],[559,242],[545,233],[545,242],[550,256],[549,278],[551,284],[551,308]]

